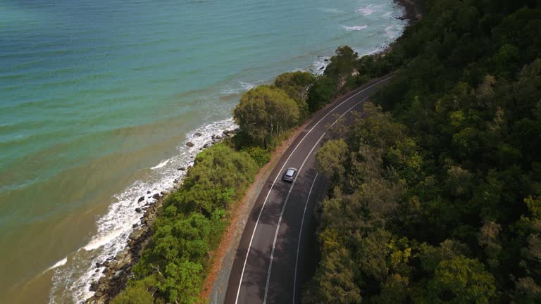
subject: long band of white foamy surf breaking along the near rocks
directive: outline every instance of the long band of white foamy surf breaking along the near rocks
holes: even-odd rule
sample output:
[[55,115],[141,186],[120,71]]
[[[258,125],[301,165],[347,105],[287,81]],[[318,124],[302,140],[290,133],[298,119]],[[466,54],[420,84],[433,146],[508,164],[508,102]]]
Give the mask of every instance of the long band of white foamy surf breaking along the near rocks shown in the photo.
[[[97,269],[95,265],[124,250],[128,244],[128,236],[134,230],[133,225],[139,224],[142,216],[135,208],[154,203],[151,196],[173,189],[173,180],[180,180],[185,175],[185,171],[178,170],[179,167],[193,165],[192,157],[205,144],[211,144],[213,134],[222,134],[225,129],[236,127],[230,118],[195,129],[187,134],[185,142],[178,146],[177,156],[158,164],[147,180],[134,182],[114,196],[107,213],[97,220],[97,234],[92,236],[87,245],[70,255],[70,262],[66,267],[54,269],[49,303],[66,303],[67,295],[70,295],[73,303],[81,303],[93,296],[94,293],[89,291],[90,284],[101,277],[103,270],[103,267]],[[201,135],[196,136],[196,133]],[[187,141],[191,141],[194,146],[186,146]],[[141,196],[144,196],[144,199],[139,202]],[[66,262],[67,260],[64,265]]]

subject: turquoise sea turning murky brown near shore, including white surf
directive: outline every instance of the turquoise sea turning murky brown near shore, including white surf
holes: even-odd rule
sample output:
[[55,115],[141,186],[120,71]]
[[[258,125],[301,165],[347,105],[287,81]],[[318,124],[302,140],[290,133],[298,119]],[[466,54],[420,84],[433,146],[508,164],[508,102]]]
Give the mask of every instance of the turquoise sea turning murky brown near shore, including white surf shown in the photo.
[[194,130],[202,145],[234,127],[243,91],[317,72],[337,46],[383,48],[401,14],[392,0],[0,0],[0,292],[89,296],[92,262],[125,243],[132,201],[189,164]]

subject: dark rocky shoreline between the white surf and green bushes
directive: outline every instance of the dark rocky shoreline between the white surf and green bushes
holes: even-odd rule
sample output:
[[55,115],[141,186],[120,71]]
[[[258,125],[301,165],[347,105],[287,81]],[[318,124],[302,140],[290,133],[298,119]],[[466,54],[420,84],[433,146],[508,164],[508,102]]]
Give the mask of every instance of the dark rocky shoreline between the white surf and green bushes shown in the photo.
[[[238,132],[238,129],[225,129],[222,134],[213,134],[211,144],[205,144],[199,151],[204,148],[208,148],[213,144],[218,144],[224,139],[233,137]],[[198,137],[201,134],[194,134]],[[186,146],[192,147],[194,144],[191,141],[186,143]],[[188,170],[189,167],[179,167],[179,171]],[[173,182],[173,191],[178,189],[182,181],[175,179]],[[133,225],[133,232],[128,236],[128,245],[123,251],[120,251],[114,256],[111,256],[103,262],[97,262],[96,272],[101,272],[102,275],[97,281],[92,281],[90,284],[90,291],[94,291],[94,296],[85,300],[85,304],[107,304],[112,300],[120,291],[122,291],[129,279],[133,276],[131,273],[132,266],[141,257],[144,248],[150,241],[152,236],[151,226],[158,210],[160,210],[163,201],[167,198],[168,191],[161,191],[160,193],[152,194],[151,191],[147,191],[147,194],[139,197],[138,203],[148,200],[141,208],[135,208],[137,213],[142,213],[139,224]]]

